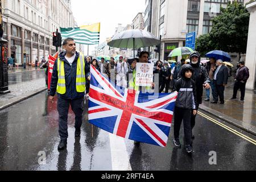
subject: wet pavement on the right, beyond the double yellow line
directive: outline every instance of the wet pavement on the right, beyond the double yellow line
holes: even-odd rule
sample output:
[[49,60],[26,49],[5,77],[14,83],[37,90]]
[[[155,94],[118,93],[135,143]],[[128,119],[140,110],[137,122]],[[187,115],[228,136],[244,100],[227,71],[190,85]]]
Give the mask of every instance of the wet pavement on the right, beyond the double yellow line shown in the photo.
[[246,90],[245,102],[240,102],[241,92],[238,90],[237,99],[230,100],[233,96],[233,78],[229,78],[228,86],[224,91],[225,104],[210,104],[212,101],[212,90],[210,90],[210,101],[205,100],[199,108],[215,117],[228,122],[250,134],[256,135],[256,90]]

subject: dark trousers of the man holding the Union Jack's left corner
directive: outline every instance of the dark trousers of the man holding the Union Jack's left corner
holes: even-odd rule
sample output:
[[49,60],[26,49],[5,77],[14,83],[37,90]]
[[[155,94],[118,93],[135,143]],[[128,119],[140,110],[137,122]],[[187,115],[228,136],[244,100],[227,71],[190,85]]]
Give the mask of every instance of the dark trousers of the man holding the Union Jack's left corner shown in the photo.
[[75,129],[80,130],[82,125],[82,112],[84,111],[84,97],[69,100],[58,97],[57,109],[59,112],[59,135],[60,139],[68,138],[68,109],[69,105],[75,113]]

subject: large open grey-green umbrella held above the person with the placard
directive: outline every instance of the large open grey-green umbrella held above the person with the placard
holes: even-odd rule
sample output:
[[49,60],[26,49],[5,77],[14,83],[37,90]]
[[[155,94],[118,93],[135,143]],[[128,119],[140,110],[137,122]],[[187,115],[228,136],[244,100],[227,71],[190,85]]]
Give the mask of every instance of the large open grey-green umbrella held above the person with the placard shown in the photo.
[[115,34],[112,40],[108,43],[108,46],[135,49],[141,47],[156,46],[158,44],[160,44],[160,40],[150,32],[146,30],[133,29]]

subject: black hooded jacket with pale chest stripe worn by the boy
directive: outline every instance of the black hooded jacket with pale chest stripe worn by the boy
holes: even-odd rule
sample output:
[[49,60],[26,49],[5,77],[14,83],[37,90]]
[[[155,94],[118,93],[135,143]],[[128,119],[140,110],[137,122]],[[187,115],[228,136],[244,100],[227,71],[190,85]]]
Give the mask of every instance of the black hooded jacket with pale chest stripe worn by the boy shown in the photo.
[[[175,90],[179,92],[175,106],[183,109],[197,109],[196,100],[196,84],[191,78],[185,77],[186,70],[190,68],[193,70],[191,65],[184,64],[180,69],[180,76],[175,82]],[[193,74],[192,74],[193,76]]]

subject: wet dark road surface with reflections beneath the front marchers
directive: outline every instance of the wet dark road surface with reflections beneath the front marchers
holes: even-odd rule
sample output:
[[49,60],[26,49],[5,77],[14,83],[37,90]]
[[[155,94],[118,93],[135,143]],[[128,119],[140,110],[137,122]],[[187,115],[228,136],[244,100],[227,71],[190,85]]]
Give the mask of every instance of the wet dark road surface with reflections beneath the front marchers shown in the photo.
[[[187,155],[183,146],[174,147],[173,129],[165,148],[145,143],[137,146],[132,140],[115,137],[92,126],[87,121],[86,109],[81,137],[77,139],[74,115],[69,112],[67,150],[59,152],[57,117],[56,101],[54,104],[48,102],[47,93],[0,111],[0,170],[256,169],[255,144],[200,115],[193,131],[196,138],[192,155]],[[255,140],[253,135],[236,130]],[[181,127],[181,144],[184,143],[183,136]],[[210,151],[216,152],[216,165],[209,164]]]

